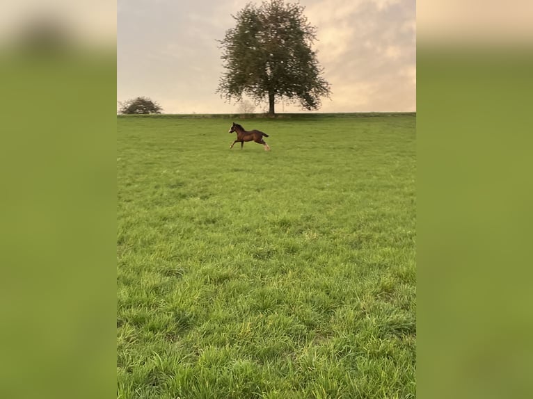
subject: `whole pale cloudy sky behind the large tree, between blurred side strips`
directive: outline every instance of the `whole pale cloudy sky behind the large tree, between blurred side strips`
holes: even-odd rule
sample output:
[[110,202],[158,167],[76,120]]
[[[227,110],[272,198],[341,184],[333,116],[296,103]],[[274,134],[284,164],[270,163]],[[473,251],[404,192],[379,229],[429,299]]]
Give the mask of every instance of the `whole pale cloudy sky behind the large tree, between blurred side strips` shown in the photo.
[[[118,0],[117,100],[147,96],[164,113],[236,112],[215,92],[223,72],[216,40],[248,2]],[[315,49],[331,83],[319,112],[416,111],[415,0],[300,3],[318,28]],[[281,111],[301,108],[276,104]]]

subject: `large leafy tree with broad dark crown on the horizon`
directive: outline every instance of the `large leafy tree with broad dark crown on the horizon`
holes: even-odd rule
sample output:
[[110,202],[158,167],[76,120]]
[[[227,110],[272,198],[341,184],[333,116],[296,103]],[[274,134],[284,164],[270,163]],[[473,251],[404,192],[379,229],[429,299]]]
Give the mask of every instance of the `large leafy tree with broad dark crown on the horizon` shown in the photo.
[[330,95],[312,44],[317,28],[308,23],[303,6],[283,0],[248,3],[237,15],[235,26],[221,42],[225,72],[217,92],[228,101],[246,95],[269,101],[274,115],[276,98],[299,101],[302,108],[315,110],[321,97]]

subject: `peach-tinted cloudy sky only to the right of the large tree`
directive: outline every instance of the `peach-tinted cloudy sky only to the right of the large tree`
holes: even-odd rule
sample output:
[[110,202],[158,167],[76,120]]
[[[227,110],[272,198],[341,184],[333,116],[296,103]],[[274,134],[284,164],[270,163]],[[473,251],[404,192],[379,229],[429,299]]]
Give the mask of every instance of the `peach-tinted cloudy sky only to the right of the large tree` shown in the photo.
[[350,101],[350,111],[415,111],[415,81],[405,72],[416,68],[415,1],[331,0],[306,12],[319,27],[319,60],[335,99],[324,111]]

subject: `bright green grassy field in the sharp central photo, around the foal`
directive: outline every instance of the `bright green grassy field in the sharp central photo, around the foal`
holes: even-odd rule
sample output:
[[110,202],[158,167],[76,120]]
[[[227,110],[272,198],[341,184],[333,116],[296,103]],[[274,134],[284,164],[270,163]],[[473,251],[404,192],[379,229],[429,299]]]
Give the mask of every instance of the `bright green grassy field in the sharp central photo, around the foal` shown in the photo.
[[117,165],[118,398],[415,398],[415,115],[118,117]]

